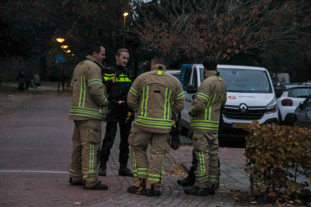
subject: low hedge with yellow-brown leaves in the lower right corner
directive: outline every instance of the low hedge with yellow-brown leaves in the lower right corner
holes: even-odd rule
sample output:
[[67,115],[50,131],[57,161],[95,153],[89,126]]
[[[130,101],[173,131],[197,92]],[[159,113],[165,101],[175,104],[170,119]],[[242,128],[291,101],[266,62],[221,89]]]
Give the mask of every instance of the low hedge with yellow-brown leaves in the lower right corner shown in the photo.
[[[311,183],[311,129],[254,121],[248,130],[245,171],[250,174],[252,194],[264,192],[267,200],[306,193]],[[297,182],[298,176],[309,183]]]

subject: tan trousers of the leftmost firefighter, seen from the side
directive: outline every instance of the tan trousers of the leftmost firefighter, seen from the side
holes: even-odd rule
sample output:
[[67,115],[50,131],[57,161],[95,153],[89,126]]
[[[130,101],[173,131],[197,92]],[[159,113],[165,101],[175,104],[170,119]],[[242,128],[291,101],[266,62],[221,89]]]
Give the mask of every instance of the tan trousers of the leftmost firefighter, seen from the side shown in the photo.
[[91,188],[98,183],[96,152],[101,141],[101,121],[74,120],[74,123],[69,178],[73,182],[83,180]]

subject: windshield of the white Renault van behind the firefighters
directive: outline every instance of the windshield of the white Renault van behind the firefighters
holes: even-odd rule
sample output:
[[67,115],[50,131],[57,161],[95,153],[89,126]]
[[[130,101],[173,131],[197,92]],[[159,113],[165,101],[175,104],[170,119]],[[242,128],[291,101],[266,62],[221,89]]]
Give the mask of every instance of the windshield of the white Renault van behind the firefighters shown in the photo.
[[[268,74],[264,70],[217,68],[227,85],[227,92],[272,93]],[[200,68],[201,80],[204,69]]]

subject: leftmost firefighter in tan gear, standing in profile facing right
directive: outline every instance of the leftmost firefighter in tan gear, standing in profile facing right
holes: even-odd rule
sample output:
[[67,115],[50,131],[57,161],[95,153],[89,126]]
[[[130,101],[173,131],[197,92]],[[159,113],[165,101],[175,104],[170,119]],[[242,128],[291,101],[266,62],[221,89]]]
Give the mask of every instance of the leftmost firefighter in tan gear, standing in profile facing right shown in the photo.
[[73,71],[71,81],[73,91],[69,119],[74,121],[75,128],[69,182],[70,185],[83,185],[84,189],[108,190],[98,180],[96,163],[96,152],[101,142],[101,121],[106,118],[108,104],[101,76],[105,48],[95,45],[89,53]]

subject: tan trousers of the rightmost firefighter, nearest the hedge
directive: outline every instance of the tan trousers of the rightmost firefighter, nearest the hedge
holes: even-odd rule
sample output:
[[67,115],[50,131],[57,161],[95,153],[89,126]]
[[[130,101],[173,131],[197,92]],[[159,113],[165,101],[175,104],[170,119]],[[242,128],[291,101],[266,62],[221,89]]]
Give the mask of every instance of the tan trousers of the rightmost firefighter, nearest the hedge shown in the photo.
[[198,161],[195,186],[207,188],[218,183],[218,132],[196,130],[193,133],[193,151]]

